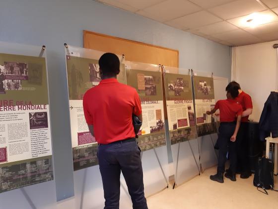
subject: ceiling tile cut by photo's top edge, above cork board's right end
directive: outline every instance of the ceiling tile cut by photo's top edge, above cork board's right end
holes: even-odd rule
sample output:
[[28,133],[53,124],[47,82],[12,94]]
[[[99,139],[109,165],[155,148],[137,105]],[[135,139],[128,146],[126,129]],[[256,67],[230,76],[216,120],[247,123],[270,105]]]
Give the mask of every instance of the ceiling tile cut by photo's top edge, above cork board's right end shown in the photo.
[[[202,10],[200,6],[188,0],[166,0],[143,9],[144,12],[148,13],[148,17],[163,22],[200,10]],[[140,14],[140,12],[138,13]]]

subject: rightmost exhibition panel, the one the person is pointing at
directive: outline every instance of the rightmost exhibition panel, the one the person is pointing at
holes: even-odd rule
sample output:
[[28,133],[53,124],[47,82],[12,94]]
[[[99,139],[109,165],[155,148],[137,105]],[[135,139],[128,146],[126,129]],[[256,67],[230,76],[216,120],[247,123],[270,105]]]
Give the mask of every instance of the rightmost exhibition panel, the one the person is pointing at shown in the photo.
[[206,114],[206,111],[213,108],[215,104],[213,73],[192,71],[192,81],[200,152],[200,170],[203,172],[205,169],[217,164],[217,153],[214,149],[214,144],[217,140],[216,117],[215,114]]

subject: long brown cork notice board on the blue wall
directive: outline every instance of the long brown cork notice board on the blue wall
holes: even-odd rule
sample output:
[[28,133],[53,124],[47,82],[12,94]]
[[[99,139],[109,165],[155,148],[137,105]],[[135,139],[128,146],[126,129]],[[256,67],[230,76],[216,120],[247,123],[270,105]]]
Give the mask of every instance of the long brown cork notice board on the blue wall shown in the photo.
[[124,54],[127,61],[178,67],[179,51],[151,44],[83,31],[83,46],[115,54]]

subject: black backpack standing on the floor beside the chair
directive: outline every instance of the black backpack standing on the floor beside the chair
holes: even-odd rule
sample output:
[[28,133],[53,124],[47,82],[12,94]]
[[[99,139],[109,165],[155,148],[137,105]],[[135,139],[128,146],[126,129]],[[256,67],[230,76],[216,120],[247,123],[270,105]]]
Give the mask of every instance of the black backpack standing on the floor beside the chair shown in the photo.
[[[266,190],[274,190],[273,163],[271,159],[260,157],[258,167],[255,171],[253,184],[257,190],[268,195]],[[264,190],[261,191],[259,188]],[[277,190],[274,190],[277,191]]]

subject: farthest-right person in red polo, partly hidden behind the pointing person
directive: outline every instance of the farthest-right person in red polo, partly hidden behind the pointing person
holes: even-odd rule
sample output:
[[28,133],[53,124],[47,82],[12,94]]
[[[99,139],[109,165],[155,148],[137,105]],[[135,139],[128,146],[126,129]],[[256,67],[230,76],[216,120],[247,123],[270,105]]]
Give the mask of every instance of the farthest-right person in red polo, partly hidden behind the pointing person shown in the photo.
[[[228,84],[230,87],[238,87],[238,97],[236,98],[237,103],[241,104],[243,112],[241,125],[237,134],[236,146],[237,146],[237,158],[238,158],[238,168],[241,171],[240,178],[247,179],[251,176],[249,159],[248,159],[248,117],[252,114],[253,104],[251,97],[243,92],[240,85],[232,81]],[[229,170],[227,171],[229,172]]]

